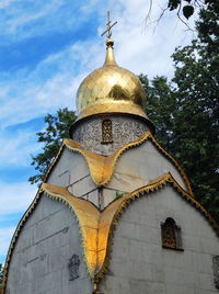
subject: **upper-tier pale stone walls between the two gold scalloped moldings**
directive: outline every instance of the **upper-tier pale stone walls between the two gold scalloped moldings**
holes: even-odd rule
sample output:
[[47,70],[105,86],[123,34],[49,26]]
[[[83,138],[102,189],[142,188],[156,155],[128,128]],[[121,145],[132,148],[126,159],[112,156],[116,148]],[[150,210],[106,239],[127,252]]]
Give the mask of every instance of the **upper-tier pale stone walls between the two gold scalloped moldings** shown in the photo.
[[47,181],[67,186],[74,196],[89,200],[97,207],[104,208],[118,193],[132,192],[165,172],[171,172],[186,190],[176,167],[150,140],[146,140],[142,145],[126,150],[118,158],[112,179],[102,188],[97,188],[92,181],[83,156],[67,148]]

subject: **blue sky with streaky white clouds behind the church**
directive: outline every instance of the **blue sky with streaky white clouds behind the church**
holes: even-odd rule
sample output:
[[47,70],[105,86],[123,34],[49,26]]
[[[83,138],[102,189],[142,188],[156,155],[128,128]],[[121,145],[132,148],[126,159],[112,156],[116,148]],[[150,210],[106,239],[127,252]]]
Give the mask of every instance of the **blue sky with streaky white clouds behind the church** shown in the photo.
[[[148,1],[149,2],[149,1]],[[153,1],[154,20],[164,1]],[[114,29],[117,63],[135,74],[171,77],[170,55],[193,35],[166,13],[154,30],[146,26],[145,0],[0,1],[0,262],[4,262],[19,219],[36,193],[31,154],[44,116],[59,108],[76,110],[82,79],[104,61],[101,33],[106,12]]]

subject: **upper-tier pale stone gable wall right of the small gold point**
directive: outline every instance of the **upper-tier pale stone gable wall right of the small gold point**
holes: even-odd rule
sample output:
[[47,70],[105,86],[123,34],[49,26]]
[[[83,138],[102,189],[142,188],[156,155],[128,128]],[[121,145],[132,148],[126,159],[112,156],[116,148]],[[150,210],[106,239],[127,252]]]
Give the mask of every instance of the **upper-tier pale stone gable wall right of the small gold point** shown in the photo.
[[186,190],[184,180],[172,161],[161,154],[150,140],[146,140],[122,155],[108,188],[132,192],[166,172],[171,172],[180,185]]

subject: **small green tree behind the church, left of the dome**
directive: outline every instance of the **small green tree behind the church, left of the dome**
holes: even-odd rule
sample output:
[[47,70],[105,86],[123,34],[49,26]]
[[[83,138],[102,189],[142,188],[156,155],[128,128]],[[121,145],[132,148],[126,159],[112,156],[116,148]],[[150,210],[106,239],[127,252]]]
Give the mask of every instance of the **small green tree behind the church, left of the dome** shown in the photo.
[[32,156],[32,166],[35,166],[37,173],[28,179],[33,183],[41,183],[47,168],[58,152],[64,138],[69,137],[69,128],[76,121],[77,116],[73,111],[67,108],[59,109],[57,114],[47,114],[44,118],[46,129],[36,133],[37,142],[43,143],[42,152]]

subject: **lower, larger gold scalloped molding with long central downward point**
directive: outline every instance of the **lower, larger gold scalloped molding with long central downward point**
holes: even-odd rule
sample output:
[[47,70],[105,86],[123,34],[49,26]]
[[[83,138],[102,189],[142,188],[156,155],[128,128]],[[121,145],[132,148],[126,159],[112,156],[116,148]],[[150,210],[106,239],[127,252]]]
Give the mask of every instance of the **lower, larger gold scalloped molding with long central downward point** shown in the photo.
[[37,205],[43,192],[45,195],[66,204],[77,216],[88,271],[93,282],[97,283],[107,270],[113,231],[124,210],[135,199],[145,196],[150,192],[158,191],[166,184],[172,184],[183,199],[189,202],[205,216],[210,226],[216,230],[217,235],[219,235],[219,225],[216,223],[216,220],[196,200],[194,200],[189,193],[182,189],[182,186],[176,182],[171,173],[165,173],[162,177],[159,177],[155,180],[151,181],[148,185],[137,189],[134,192],[126,194],[122,199],[112,202],[103,212],[100,212],[92,203],[72,196],[66,188],[44,183],[41,190],[37,192],[33,203],[19,223],[13,235],[7,256],[3,282],[7,282],[10,259],[19,234],[26,219]]

